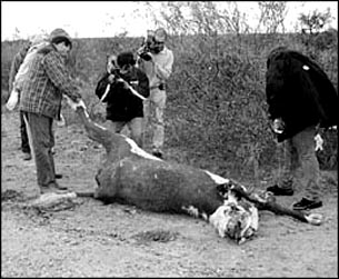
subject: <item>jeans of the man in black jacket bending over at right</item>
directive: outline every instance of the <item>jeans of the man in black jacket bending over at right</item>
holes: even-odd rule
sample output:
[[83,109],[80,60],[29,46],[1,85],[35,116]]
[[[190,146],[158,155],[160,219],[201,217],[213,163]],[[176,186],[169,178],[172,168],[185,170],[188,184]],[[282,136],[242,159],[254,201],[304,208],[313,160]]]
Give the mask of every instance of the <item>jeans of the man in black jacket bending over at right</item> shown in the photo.
[[320,168],[315,151],[316,126],[308,127],[285,143],[281,187],[291,185],[308,198],[320,197]]

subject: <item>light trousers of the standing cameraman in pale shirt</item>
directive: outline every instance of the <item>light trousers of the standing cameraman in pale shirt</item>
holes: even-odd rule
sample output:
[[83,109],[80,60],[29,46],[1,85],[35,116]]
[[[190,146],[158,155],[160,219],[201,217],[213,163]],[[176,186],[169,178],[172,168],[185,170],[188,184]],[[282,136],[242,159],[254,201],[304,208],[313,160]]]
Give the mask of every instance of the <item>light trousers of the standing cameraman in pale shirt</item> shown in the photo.
[[144,127],[152,127],[152,148],[161,150],[164,141],[163,112],[166,108],[166,91],[154,88],[143,102]]

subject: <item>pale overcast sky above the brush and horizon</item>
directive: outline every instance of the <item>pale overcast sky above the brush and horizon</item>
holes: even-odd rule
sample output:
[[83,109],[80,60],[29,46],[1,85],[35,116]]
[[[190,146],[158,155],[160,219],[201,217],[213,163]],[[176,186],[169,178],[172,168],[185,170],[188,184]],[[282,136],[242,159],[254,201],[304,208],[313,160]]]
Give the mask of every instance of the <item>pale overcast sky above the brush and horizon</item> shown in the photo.
[[[152,6],[159,12],[159,2]],[[256,1],[240,1],[238,7],[256,23]],[[328,7],[335,17],[331,27],[338,30],[338,1],[288,1],[287,7],[285,23],[291,31],[301,12],[322,12]],[[139,37],[156,28],[151,12],[142,1],[1,1],[1,41],[12,40],[14,34],[28,39],[54,28],[63,28],[76,38],[114,37],[122,32]]]

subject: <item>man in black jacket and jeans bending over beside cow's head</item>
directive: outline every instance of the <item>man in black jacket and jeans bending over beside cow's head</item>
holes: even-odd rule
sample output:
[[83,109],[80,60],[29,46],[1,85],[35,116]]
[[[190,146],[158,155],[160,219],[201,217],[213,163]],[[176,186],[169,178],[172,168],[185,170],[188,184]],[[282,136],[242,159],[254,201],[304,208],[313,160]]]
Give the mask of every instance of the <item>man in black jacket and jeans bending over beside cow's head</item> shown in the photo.
[[[272,129],[278,142],[285,141],[288,155],[282,182],[267,190],[276,196],[292,196],[293,186],[299,183],[305,197],[293,205],[293,209],[321,207],[315,136],[319,127],[337,126],[338,93],[315,61],[281,47],[268,57],[266,82]],[[300,165],[300,173],[297,172],[295,158]]]

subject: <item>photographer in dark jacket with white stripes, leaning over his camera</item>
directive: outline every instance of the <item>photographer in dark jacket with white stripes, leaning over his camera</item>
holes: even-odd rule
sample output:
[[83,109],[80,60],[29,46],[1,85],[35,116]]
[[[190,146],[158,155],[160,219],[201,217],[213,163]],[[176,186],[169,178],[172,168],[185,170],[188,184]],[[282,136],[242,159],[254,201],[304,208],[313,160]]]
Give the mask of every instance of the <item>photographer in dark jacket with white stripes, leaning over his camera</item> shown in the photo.
[[[141,98],[136,96],[130,87]],[[107,103],[108,128],[119,133],[128,124],[131,138],[142,148],[142,99],[149,97],[149,80],[146,73],[136,67],[132,52],[122,52],[116,61],[109,61],[108,72],[99,80],[96,94]]]

